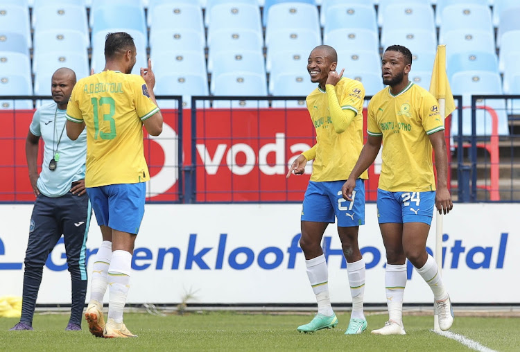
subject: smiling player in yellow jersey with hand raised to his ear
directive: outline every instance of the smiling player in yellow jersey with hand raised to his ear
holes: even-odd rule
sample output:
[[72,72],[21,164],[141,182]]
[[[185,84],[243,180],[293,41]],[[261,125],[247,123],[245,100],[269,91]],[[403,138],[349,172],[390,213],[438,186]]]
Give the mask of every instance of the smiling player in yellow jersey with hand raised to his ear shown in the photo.
[[323,233],[329,223],[338,219],[338,234],[347,259],[347,272],[352,294],[352,315],[346,335],[359,334],[367,328],[363,313],[365,261],[359,251],[359,225],[365,224],[365,183],[367,172],[354,180],[352,200],[341,196],[341,186],[349,176],[363,148],[363,98],[361,82],[338,74],[336,50],[317,46],[309,55],[307,71],[318,87],[306,98],[307,109],[316,129],[316,143],[291,165],[291,173],[304,173],[307,161],[314,160],[309,186],[304,195],[300,247],[304,252],[307,275],[318,301],[318,314],[297,328],[313,332],[334,328],[338,319],[329,298],[327,262],[321,248]]

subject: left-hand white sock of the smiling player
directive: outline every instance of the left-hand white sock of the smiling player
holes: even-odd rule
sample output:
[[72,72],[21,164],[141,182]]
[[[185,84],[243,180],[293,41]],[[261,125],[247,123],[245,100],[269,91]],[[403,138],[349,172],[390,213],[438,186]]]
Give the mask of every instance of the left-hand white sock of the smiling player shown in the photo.
[[307,267],[307,276],[309,276],[309,281],[318,302],[318,313],[330,317],[334,312],[329,297],[329,271],[324,254],[305,261],[305,265]]

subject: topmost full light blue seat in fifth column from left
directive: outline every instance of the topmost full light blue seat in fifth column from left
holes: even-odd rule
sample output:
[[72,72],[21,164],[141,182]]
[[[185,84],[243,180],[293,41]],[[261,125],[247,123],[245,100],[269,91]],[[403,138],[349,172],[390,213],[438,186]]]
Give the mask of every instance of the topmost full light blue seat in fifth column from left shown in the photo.
[[261,35],[262,26],[258,6],[247,3],[226,3],[211,8],[208,24],[208,42],[216,30],[228,28],[250,29]]

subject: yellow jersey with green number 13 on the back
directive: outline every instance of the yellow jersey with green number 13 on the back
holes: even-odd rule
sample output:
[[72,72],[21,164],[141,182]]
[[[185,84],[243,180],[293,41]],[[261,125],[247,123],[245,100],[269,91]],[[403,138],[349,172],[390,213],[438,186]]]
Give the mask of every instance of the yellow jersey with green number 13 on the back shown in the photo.
[[103,71],[76,83],[67,118],[76,123],[85,121],[87,128],[85,186],[150,179],[142,121],[158,111],[141,76]]

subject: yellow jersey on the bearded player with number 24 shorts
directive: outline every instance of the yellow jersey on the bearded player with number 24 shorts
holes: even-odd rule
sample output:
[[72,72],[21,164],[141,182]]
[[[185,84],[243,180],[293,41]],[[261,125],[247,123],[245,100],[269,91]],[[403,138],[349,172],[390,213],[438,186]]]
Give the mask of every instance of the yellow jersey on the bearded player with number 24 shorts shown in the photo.
[[428,134],[444,130],[437,99],[408,82],[393,96],[390,87],[368,103],[367,133],[383,136],[379,188],[390,192],[435,191]]

